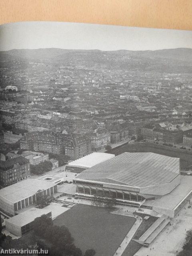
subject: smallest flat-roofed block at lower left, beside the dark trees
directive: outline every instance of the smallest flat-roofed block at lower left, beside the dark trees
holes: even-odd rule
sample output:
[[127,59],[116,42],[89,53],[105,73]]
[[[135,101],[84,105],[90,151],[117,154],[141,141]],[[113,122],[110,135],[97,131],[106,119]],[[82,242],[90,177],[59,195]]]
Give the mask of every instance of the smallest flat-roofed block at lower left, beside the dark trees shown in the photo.
[[31,208],[23,213],[20,213],[12,218],[5,220],[6,230],[15,236],[24,236],[25,234],[32,231],[33,221],[35,218],[38,218],[42,215],[46,215],[49,218],[52,218],[52,213],[50,210]]

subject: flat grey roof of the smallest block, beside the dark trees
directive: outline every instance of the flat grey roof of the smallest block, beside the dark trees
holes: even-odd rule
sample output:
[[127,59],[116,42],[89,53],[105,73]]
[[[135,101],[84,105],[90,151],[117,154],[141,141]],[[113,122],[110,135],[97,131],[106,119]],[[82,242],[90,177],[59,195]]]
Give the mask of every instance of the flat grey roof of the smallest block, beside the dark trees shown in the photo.
[[39,209],[39,208],[31,208],[28,211],[22,212],[12,218],[6,219],[6,222],[14,224],[16,226],[24,226],[32,221],[35,218],[42,216],[43,214],[48,214],[50,210],[48,209]]

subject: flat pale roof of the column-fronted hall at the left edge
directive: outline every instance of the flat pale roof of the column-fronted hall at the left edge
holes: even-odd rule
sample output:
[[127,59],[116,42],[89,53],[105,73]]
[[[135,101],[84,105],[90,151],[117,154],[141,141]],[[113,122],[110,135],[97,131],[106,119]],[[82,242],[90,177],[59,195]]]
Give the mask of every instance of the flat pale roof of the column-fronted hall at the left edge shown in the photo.
[[34,195],[39,189],[45,190],[56,184],[45,180],[27,179],[0,190],[0,197],[12,203]]

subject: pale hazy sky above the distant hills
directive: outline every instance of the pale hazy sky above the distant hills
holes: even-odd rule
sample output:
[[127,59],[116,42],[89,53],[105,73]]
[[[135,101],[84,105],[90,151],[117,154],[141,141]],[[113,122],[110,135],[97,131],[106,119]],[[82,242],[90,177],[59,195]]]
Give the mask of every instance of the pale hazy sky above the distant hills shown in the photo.
[[192,31],[70,22],[17,22],[0,26],[0,50],[157,50],[180,47],[192,48]]

